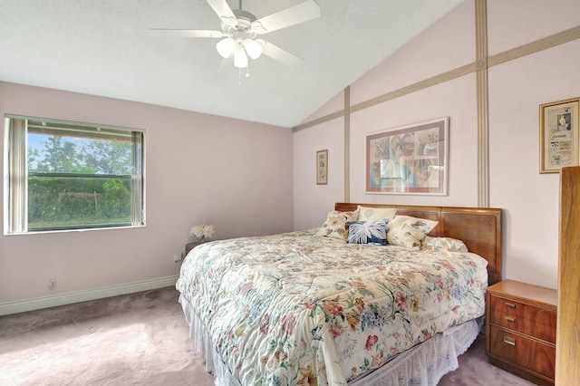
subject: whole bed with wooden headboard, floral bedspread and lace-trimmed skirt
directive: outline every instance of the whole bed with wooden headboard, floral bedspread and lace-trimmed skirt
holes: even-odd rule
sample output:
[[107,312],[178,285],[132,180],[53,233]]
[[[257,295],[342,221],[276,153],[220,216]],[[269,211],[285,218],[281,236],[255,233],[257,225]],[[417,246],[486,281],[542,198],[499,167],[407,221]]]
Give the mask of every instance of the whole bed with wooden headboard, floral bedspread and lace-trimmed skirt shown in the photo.
[[[327,236],[336,216],[381,223],[361,209],[393,235],[420,224],[420,246]],[[193,248],[176,286],[219,385],[435,385],[500,280],[500,209],[336,203],[320,228]]]

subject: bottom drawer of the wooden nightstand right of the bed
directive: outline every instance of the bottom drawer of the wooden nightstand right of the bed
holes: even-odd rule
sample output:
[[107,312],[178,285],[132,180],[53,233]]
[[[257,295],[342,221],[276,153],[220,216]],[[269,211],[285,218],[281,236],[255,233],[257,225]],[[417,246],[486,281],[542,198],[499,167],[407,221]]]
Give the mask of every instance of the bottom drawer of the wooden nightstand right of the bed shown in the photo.
[[556,346],[491,326],[489,352],[504,360],[554,379]]

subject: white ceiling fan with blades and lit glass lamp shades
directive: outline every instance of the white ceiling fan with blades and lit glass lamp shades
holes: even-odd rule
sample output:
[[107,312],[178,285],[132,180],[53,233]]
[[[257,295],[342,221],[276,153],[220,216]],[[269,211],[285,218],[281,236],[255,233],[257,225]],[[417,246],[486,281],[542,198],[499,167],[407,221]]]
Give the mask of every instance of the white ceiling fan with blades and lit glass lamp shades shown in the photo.
[[[314,0],[306,0],[259,19],[242,9],[242,0],[239,0],[239,9],[234,10],[227,5],[226,0],[207,0],[207,2],[221,19],[221,31],[151,28],[150,33],[223,38],[216,44],[216,49],[224,59],[233,55],[234,66],[238,69],[247,69],[248,56],[257,59],[262,53],[278,62],[295,65],[302,63],[303,60],[273,43],[256,37],[320,17],[320,6]],[[248,72],[246,76],[249,76]]]

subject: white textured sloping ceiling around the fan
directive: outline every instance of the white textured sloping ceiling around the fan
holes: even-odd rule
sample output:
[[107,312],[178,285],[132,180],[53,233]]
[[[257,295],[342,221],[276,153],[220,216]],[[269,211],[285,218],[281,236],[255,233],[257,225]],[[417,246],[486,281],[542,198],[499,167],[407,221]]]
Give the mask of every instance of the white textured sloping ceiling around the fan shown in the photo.
[[[242,8],[260,18],[302,1]],[[0,0],[0,81],[292,127],[462,0],[315,1],[320,18],[262,36],[304,63],[263,55],[240,78],[218,39],[149,32],[219,30],[205,0]]]

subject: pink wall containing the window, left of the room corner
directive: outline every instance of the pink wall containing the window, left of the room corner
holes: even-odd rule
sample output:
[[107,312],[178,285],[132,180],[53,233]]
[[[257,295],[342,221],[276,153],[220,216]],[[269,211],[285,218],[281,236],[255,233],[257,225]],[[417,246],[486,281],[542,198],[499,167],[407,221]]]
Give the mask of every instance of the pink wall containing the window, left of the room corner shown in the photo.
[[199,223],[216,238],[292,230],[290,129],[0,82],[5,113],[146,130],[147,226],[0,236],[0,303],[177,275]]

